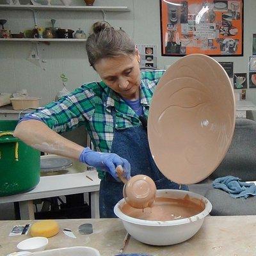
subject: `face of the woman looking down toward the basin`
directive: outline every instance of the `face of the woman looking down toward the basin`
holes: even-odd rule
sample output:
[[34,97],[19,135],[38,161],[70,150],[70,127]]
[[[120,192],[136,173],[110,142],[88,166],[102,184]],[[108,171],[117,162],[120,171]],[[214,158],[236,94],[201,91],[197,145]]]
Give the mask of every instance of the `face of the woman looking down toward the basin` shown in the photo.
[[140,54],[104,58],[97,61],[95,70],[102,81],[124,99],[140,97]]

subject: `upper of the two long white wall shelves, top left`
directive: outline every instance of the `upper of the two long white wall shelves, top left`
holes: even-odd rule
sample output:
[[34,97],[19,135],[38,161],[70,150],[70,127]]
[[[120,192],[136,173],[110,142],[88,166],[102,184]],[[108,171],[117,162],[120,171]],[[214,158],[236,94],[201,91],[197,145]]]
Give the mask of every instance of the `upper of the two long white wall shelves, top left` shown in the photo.
[[127,6],[62,6],[62,5],[32,5],[0,4],[0,9],[10,10],[63,10],[63,11],[84,11],[84,12],[130,12]]

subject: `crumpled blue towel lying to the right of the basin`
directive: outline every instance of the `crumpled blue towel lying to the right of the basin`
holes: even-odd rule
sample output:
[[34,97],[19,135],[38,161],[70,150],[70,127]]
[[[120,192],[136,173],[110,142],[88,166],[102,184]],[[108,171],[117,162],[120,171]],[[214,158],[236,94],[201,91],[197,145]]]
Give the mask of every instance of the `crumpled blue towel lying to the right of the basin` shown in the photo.
[[215,179],[212,182],[213,188],[222,189],[230,194],[233,198],[248,198],[256,195],[256,186],[254,183],[241,182],[239,178],[226,176]]

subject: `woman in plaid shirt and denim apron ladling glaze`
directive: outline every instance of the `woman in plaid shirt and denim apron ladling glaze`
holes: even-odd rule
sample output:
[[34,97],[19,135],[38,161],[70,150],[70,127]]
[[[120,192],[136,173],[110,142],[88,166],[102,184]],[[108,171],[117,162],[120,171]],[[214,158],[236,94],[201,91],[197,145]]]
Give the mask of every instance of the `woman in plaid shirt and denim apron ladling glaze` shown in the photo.
[[[86,51],[102,81],[83,84],[58,102],[24,116],[14,135],[38,150],[95,166],[101,179],[101,218],[115,217],[113,207],[123,197],[115,171],[118,165],[127,179],[145,174],[157,189],[188,189],[159,172],[148,147],[148,109],[164,71],[140,72],[140,54],[131,38],[106,22],[93,24]],[[79,125],[85,125],[98,152],[57,133]]]

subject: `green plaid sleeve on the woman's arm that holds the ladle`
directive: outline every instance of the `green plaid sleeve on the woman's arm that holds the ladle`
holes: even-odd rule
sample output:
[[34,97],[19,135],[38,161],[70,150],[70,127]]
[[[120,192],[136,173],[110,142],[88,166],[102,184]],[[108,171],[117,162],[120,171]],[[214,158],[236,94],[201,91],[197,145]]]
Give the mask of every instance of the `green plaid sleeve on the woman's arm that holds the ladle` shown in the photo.
[[33,113],[24,116],[25,119],[42,120],[56,132],[65,132],[88,122],[94,113],[95,93],[90,90],[91,84],[84,84],[67,96],[56,102],[51,102]]

